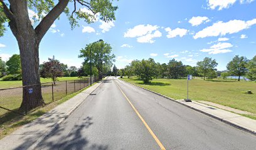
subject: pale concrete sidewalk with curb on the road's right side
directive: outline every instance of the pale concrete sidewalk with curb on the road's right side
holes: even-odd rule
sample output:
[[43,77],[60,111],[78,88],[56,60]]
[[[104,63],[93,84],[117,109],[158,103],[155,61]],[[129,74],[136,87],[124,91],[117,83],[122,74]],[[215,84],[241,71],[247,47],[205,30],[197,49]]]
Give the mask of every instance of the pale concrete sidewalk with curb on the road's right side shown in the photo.
[[[122,81],[124,81],[124,80],[122,80]],[[124,81],[124,82],[126,82],[126,81]],[[128,83],[128,82],[126,82],[126,83]],[[132,84],[132,83],[129,83],[129,84]],[[135,84],[132,84],[132,85],[137,86]],[[137,86],[137,87],[142,88],[141,86]],[[150,91],[151,93],[157,94],[164,98],[170,99],[171,101],[182,104],[183,106],[194,109],[195,111],[206,114],[212,118],[218,119],[218,120],[222,121],[223,123],[230,124],[231,126],[233,126],[235,128],[242,129],[243,131],[247,131],[248,133],[256,135],[256,120],[254,120],[254,119],[250,119],[250,118],[241,116],[239,114],[231,113],[229,111],[225,111],[220,108],[215,108],[213,106],[198,103],[196,101],[186,102],[183,99],[175,100],[173,98],[169,98],[168,96],[164,96],[163,94],[156,93],[155,91],[151,91],[146,88],[142,88],[142,89]]]

